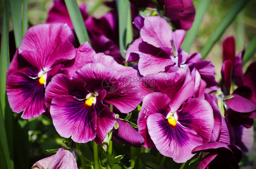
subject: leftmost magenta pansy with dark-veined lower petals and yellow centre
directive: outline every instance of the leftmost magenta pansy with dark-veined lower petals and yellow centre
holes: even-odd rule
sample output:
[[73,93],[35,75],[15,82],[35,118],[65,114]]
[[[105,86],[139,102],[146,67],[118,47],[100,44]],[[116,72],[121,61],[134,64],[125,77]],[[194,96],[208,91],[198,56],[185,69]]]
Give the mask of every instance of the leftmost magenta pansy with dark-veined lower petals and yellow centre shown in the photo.
[[42,24],[31,27],[7,70],[6,91],[12,111],[32,119],[46,112],[45,88],[65,61],[75,57],[67,24]]

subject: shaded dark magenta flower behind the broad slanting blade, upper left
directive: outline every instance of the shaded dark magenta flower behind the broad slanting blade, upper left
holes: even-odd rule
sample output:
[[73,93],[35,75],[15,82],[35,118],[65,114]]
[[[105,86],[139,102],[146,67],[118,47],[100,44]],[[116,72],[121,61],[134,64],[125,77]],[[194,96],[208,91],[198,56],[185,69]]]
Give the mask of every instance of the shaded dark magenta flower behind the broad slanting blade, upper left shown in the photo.
[[[83,20],[88,31],[92,48],[98,53],[103,52],[111,55],[119,64],[124,64],[118,44],[118,15],[110,11],[100,19],[89,17],[86,12],[86,5],[80,6]],[[73,29],[67,7],[64,0],[56,0],[48,13],[46,23],[67,23]],[[72,37],[72,43],[77,45],[77,40]]]

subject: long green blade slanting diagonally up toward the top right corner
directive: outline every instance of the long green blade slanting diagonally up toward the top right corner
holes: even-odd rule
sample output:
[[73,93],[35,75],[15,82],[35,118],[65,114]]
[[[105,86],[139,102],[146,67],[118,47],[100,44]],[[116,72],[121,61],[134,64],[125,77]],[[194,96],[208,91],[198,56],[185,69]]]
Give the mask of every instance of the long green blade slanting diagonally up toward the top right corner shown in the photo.
[[224,33],[227,27],[235,20],[236,15],[246,6],[249,0],[236,0],[236,2],[231,6],[230,10],[220,21],[220,24],[217,26],[213,34],[210,36],[203,49],[200,51],[202,55],[202,60],[205,59],[206,55],[210,52],[211,48],[220,36]]

